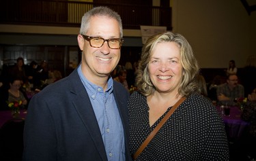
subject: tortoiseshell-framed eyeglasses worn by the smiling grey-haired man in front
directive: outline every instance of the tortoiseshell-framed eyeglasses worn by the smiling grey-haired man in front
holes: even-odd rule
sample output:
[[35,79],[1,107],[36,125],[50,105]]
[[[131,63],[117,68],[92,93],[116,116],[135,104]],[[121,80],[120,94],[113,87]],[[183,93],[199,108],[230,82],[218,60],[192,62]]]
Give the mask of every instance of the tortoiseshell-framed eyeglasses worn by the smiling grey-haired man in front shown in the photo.
[[103,39],[102,37],[89,37],[87,35],[82,35],[84,39],[89,41],[90,46],[94,48],[100,48],[103,46],[104,42],[108,42],[108,46],[111,49],[120,49],[122,46],[122,43],[124,43],[124,39]]

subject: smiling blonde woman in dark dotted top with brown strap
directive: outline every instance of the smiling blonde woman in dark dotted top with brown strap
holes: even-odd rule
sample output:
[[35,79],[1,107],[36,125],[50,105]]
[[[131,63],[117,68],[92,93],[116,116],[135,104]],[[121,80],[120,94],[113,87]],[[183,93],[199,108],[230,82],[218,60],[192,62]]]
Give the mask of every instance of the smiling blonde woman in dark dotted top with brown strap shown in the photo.
[[167,32],[150,37],[137,74],[139,91],[128,101],[131,154],[167,111],[186,97],[137,160],[229,160],[223,122],[200,94],[199,66],[182,35]]

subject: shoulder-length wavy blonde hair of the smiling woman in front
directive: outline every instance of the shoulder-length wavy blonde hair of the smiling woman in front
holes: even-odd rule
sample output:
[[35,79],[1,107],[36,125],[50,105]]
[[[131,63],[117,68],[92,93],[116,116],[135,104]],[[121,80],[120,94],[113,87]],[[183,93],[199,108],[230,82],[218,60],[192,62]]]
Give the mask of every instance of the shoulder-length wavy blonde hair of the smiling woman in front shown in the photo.
[[147,42],[142,48],[141,60],[136,77],[136,86],[144,96],[153,94],[156,90],[150,80],[148,72],[148,63],[152,56],[152,50],[156,47],[157,43],[162,42],[175,42],[180,48],[180,60],[182,64],[182,79],[180,80],[179,94],[188,96],[193,92],[199,93],[199,86],[197,83],[197,75],[199,74],[199,65],[197,59],[193,54],[193,50],[188,41],[179,33],[160,33],[147,39]]

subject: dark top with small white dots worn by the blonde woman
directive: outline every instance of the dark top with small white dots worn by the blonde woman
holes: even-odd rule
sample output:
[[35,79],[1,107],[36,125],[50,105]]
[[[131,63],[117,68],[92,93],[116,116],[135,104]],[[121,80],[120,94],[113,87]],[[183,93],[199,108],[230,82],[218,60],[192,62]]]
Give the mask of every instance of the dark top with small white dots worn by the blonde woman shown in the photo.
[[[133,92],[128,108],[130,151],[134,154],[171,107],[151,127],[145,96]],[[203,96],[188,96],[137,160],[229,160],[227,136],[216,108]]]

